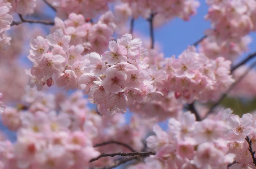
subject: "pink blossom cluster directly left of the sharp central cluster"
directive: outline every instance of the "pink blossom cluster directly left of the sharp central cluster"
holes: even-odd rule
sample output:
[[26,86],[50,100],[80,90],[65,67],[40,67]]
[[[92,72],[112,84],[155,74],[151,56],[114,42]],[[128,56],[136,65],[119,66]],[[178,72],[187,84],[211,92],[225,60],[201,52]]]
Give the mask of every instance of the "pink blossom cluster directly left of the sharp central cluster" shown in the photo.
[[65,86],[67,90],[77,88],[78,78],[85,73],[88,64],[83,55],[105,51],[115,27],[113,20],[111,12],[102,15],[93,25],[75,13],[65,22],[55,18],[53,34],[30,41],[32,49],[28,58],[34,62],[34,67],[27,71],[31,76],[29,85],[41,90],[45,84],[52,86],[54,78],[58,86]]

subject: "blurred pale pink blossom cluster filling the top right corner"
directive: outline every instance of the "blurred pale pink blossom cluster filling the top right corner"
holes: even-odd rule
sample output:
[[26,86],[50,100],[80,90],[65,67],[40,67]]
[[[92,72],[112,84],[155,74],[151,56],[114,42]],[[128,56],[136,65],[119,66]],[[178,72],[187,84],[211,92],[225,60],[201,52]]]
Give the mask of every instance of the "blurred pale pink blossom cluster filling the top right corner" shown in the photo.
[[201,43],[201,51],[211,58],[218,56],[235,60],[247,50],[255,31],[256,3],[253,0],[207,1],[210,5],[205,16],[213,29],[207,30],[207,38]]

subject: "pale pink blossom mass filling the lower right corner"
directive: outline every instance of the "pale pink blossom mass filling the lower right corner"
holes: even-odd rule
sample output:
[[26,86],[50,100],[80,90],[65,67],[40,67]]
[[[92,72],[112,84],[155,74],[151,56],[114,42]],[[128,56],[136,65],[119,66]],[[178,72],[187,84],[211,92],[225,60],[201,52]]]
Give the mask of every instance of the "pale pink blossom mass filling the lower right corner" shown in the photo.
[[145,163],[128,168],[226,169],[231,164],[230,169],[255,168],[245,140],[246,136],[250,137],[255,150],[255,118],[251,114],[240,118],[231,113],[230,109],[225,109],[196,122],[194,114],[185,112],[179,120],[169,120],[168,131],[155,125],[156,135],[146,141],[156,154],[145,158]]

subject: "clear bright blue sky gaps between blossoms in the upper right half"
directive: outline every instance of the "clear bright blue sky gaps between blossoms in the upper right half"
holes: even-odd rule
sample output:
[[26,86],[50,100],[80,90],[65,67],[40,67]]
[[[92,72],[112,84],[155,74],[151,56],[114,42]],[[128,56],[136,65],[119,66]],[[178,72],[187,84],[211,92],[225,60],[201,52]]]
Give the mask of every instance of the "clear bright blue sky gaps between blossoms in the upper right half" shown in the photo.
[[[188,45],[193,44],[195,41],[204,36],[204,31],[211,28],[210,21],[206,21],[204,16],[207,14],[208,6],[203,0],[200,1],[200,6],[197,9],[197,14],[192,16],[189,21],[183,21],[180,18],[175,18],[168,23],[164,24],[160,28],[155,29],[155,39],[162,47],[162,52],[165,57],[170,57],[173,54],[178,56],[185,50]],[[148,22],[143,18],[135,21],[135,32],[140,32],[144,36],[149,35]],[[249,51],[244,53],[247,56],[248,53],[256,51],[256,33],[252,32],[252,43],[249,45]]]

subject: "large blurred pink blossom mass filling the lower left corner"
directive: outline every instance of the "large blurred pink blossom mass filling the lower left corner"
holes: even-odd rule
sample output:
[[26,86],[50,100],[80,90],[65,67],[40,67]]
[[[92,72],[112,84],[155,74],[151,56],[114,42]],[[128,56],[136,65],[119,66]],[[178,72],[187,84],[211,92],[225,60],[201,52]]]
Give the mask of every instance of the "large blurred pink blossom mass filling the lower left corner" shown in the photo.
[[[7,107],[1,116],[4,126],[17,131],[17,141],[0,140],[1,168],[89,168],[106,165],[114,159],[89,161],[100,152],[127,151],[122,146],[93,145],[116,140],[142,149],[141,140],[147,130],[136,118],[125,124],[124,116],[117,114],[104,119],[90,110],[82,92],[68,98],[37,92],[33,89],[23,96],[17,108]],[[145,124],[145,123],[144,123]],[[135,137],[136,136],[136,137]]]

